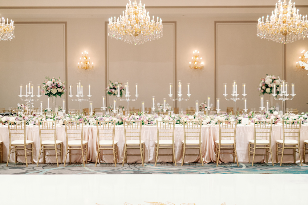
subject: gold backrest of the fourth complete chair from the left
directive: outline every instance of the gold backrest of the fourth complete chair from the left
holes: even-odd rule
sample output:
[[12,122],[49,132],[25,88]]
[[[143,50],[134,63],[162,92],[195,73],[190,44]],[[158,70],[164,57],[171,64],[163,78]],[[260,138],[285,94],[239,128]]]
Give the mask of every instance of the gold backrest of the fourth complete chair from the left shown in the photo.
[[96,121],[97,140],[99,144],[100,138],[104,140],[112,140],[115,142],[115,120],[113,121]]

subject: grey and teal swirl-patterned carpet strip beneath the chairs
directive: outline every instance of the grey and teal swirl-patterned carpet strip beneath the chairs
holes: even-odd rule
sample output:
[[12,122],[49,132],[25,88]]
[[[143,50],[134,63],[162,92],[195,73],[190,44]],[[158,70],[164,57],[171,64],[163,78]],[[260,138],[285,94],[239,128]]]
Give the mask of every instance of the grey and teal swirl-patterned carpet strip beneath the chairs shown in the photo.
[[183,167],[175,167],[171,163],[157,164],[117,164],[114,167],[113,164],[86,164],[83,167],[82,164],[67,164],[63,167],[63,164],[0,164],[0,174],[308,174],[308,164],[283,164],[282,167],[279,164],[275,164],[274,167],[271,164],[254,164],[252,167],[248,163],[240,163],[237,167],[236,164],[224,163],[216,164],[209,163],[204,164],[204,167],[199,163],[185,164]]

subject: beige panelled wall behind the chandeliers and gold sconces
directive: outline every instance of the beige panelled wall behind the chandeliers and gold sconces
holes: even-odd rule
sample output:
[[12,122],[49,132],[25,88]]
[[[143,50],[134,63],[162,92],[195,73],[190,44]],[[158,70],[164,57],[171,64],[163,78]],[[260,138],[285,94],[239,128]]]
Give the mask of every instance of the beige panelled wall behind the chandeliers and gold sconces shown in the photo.
[[[44,11],[41,10],[41,13],[44,13]],[[67,10],[65,11],[67,12]],[[70,11],[68,9],[67,16],[70,15]],[[79,11],[82,12],[83,10]],[[95,13],[97,10],[94,9],[92,11]],[[149,10],[150,14],[151,11],[152,9]],[[188,106],[193,106],[196,100],[204,101],[207,95],[210,95],[213,99],[215,93],[217,93],[217,96],[222,98],[222,91],[220,89],[222,89],[223,83],[230,83],[236,77],[238,83],[244,82],[244,79],[247,79],[245,81],[249,86],[249,92],[251,92],[247,95],[248,108],[258,108],[259,95],[256,90],[260,77],[265,76],[266,73],[282,77],[285,60],[286,80],[290,83],[296,83],[297,93],[294,100],[288,102],[287,107],[298,108],[301,112],[307,110],[307,91],[304,89],[307,86],[307,81],[305,80],[308,77],[306,75],[307,71],[297,70],[294,66],[295,62],[298,61],[301,51],[303,49],[308,50],[308,40],[300,40],[286,45],[286,58],[284,59],[283,45],[259,39],[256,36],[255,24],[251,23],[240,25],[230,25],[227,23],[217,26],[216,63],[218,75],[217,91],[215,90],[215,22],[256,21],[260,16],[270,13],[271,10],[264,13],[264,9],[261,8],[259,10],[253,10],[251,14],[242,12],[237,15],[231,14],[232,12],[229,9],[221,9],[215,10],[216,14],[214,16],[209,14],[203,15],[200,12],[199,14],[193,14],[193,12],[189,15],[183,14],[184,16],[182,14],[170,14],[176,13],[175,9],[159,11],[156,9],[155,11],[159,13],[158,15],[163,21],[176,22],[176,30],[172,30],[172,24],[166,24],[164,27],[164,36],[161,39],[147,42],[144,45],[130,45],[123,41],[116,41],[110,37],[107,38],[107,66],[109,66],[109,68],[107,67],[109,71],[107,79],[114,81],[119,78],[123,82],[129,80],[131,84],[138,83],[140,92],[142,92],[138,100],[131,104],[132,106],[139,107],[142,100],[146,101],[148,106],[150,104],[149,97],[152,95],[157,96],[157,102],[162,101],[163,97],[168,99],[166,85],[168,86],[168,83],[174,81],[176,78],[184,84],[187,82],[191,83],[192,96],[189,101],[182,103],[182,108],[185,109]],[[35,10],[35,12],[40,13],[38,10]],[[46,12],[51,13],[51,10],[46,10]],[[56,12],[59,12],[59,10],[56,10]],[[102,14],[100,14],[99,18],[55,18],[55,15],[52,18],[22,18],[22,15],[29,15],[18,14],[18,10],[5,10],[5,13],[5,16],[9,15],[10,18],[15,17],[15,21],[67,22],[68,83],[75,84],[78,80],[81,80],[84,86],[91,83],[93,94],[91,100],[94,102],[94,107],[101,106],[101,97],[105,93],[106,77],[105,21],[110,16],[118,16],[121,12],[112,9],[100,10]],[[72,11],[72,13],[74,12]],[[301,13],[308,14],[308,9],[301,8]],[[152,14],[157,15],[155,13]],[[4,15],[3,12],[2,15]],[[14,71],[14,73],[18,73],[20,71],[19,68],[23,68],[23,73],[28,75],[33,68],[26,66],[28,60],[21,58],[20,55],[30,52],[33,53],[32,61],[36,63],[44,61],[38,67],[46,68],[32,72],[32,78],[39,82],[43,82],[44,76],[60,76],[64,78],[63,30],[60,32],[57,29],[47,29],[44,30],[47,34],[42,35],[38,31],[29,28],[27,30],[34,32],[27,33],[22,30],[22,26],[16,26],[15,38],[9,42],[0,42],[2,48],[0,56],[6,56],[5,58],[0,58],[1,73],[5,73],[7,76],[7,72],[12,73],[11,71]],[[51,27],[49,26],[49,28]],[[174,34],[172,34],[172,31]],[[175,37],[176,44],[174,45]],[[24,39],[27,39],[27,41]],[[22,41],[29,43],[29,45],[18,43]],[[44,49],[40,51],[35,49],[35,46],[39,45],[44,45],[42,46]],[[173,47],[175,46],[176,61],[173,62]],[[189,68],[192,51],[195,49],[200,51],[200,56],[205,62],[204,69],[202,70],[191,70]],[[78,59],[84,50],[88,51],[91,61],[94,62],[95,67],[93,70],[79,70],[77,68]],[[9,55],[9,53],[17,51],[20,53],[19,56]],[[55,64],[59,64],[59,70],[50,69],[54,68]],[[16,70],[12,69],[13,67]],[[6,68],[10,68],[10,71],[6,71]],[[173,69],[176,69],[176,76],[172,76],[174,73]],[[236,71],[237,76],[230,77],[234,71]],[[17,97],[18,85],[23,79],[24,81],[28,81],[31,78],[31,76],[26,75],[23,74],[20,79],[15,80],[17,81],[16,83],[7,89],[1,89],[2,99],[5,98],[6,100],[0,101],[0,107],[7,108],[20,103]],[[155,81],[157,83],[154,83],[154,79],[157,79]],[[11,77],[4,78],[0,82],[1,88],[4,88],[12,81],[13,78]],[[221,101],[223,103],[221,105],[223,110],[227,106],[232,106],[230,101]],[[172,102],[169,101],[169,103],[171,104]],[[242,102],[239,105],[241,108]],[[69,108],[78,108],[78,103],[69,100],[68,106]],[[88,107],[88,102],[83,103],[83,107]]]

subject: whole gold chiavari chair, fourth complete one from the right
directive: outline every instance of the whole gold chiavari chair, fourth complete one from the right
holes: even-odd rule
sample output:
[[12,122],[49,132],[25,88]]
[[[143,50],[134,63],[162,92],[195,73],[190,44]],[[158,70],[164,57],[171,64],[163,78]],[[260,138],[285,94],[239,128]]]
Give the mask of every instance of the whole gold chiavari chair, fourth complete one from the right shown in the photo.
[[[203,167],[202,151],[201,151],[201,120],[186,121],[184,120],[184,140],[182,141],[183,157],[182,164],[184,163],[185,156],[199,156],[200,163]],[[191,138],[198,138],[197,140],[191,140]],[[186,147],[186,146],[199,146],[199,147]],[[186,149],[199,149],[199,154],[185,154]]]

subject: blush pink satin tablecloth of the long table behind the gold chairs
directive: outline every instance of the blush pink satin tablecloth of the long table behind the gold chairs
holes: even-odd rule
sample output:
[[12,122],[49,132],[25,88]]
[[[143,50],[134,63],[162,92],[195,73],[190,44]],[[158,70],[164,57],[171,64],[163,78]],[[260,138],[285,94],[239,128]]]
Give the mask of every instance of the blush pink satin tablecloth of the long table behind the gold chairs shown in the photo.
[[[96,126],[94,125],[85,125],[83,128],[83,138],[88,141],[88,156],[87,162],[95,163],[96,153],[97,153],[97,131]],[[154,163],[155,162],[155,140],[157,140],[157,130],[156,126],[153,125],[143,125],[142,140],[145,141],[145,163]],[[272,128],[272,152],[274,163],[276,163],[276,140],[282,139],[282,125],[273,125]],[[294,138],[293,138],[294,139]],[[9,148],[9,132],[8,127],[3,125],[0,126],[0,140],[2,141],[2,156],[3,161],[7,161],[8,156],[8,148]],[[37,163],[39,156],[39,127],[38,126],[26,126],[26,140],[34,141],[34,163]],[[65,158],[65,150],[66,150],[66,135],[65,135],[65,127],[57,126],[57,140],[63,141],[63,162]],[[70,139],[71,140],[71,139]],[[116,126],[115,128],[115,140],[118,141],[118,163],[122,163],[123,161],[123,151],[124,151],[124,127],[123,125]],[[175,155],[176,162],[181,163],[182,161],[182,140],[184,140],[184,128],[183,125],[175,126],[174,133],[175,140]],[[201,129],[201,140],[202,140],[202,157],[205,163],[215,162],[215,140],[219,140],[219,129],[218,125],[202,125]],[[237,125],[236,131],[236,148],[237,148],[237,158],[239,163],[248,163],[248,140],[253,140],[253,125]],[[303,124],[301,127],[300,133],[300,148],[301,155],[303,158],[303,147],[304,140],[308,140],[308,125]],[[24,151],[20,150],[20,153],[24,153]],[[48,151],[51,154],[54,154],[54,151]],[[76,151],[77,152],[77,151]],[[79,151],[80,152],[80,151]],[[107,153],[108,151],[104,151]],[[109,151],[110,153],[111,151]],[[129,150],[129,153],[138,154],[139,150]],[[169,152],[170,150],[160,150],[161,153]],[[197,154],[198,150],[188,150],[187,154]],[[168,153],[168,154],[169,154]],[[263,150],[257,150],[256,153],[262,154]],[[286,150],[285,153],[293,153],[293,150]],[[67,163],[68,163],[67,157]],[[72,163],[82,162],[81,155],[73,155],[71,157]],[[265,156],[256,156],[255,162],[265,162]],[[232,155],[222,155],[220,160],[222,162],[233,162]],[[20,163],[25,163],[24,157],[18,157],[17,159]],[[184,163],[191,163],[199,161],[199,156],[185,156]],[[296,161],[299,163],[299,156],[296,155]],[[14,163],[14,153],[10,155],[10,163]],[[30,162],[30,157],[28,157],[28,162]],[[40,163],[43,162],[43,158],[41,155]],[[128,156],[128,163],[141,163],[140,156]],[[159,156],[157,162],[172,162],[172,156]],[[269,162],[271,162],[269,156]],[[280,162],[280,157],[278,158],[278,162]],[[293,163],[293,156],[284,156],[284,163]],[[56,163],[55,156],[46,157],[46,163]],[[107,155],[103,156],[101,163],[113,163],[113,156]]]

